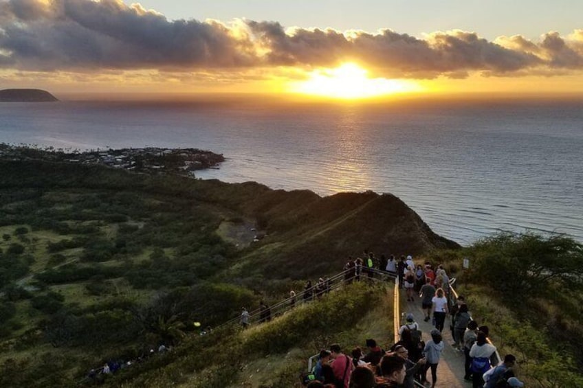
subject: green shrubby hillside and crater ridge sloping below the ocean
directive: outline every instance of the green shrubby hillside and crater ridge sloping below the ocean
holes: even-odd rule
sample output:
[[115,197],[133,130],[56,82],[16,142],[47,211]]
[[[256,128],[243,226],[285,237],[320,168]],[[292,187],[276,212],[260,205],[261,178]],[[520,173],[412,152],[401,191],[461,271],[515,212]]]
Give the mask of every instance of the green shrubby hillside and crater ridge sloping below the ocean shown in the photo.
[[[531,385],[568,387],[583,362],[583,249],[564,236],[461,248],[373,192],[322,198],[42,161],[0,161],[0,181],[2,387],[292,387],[322,346],[388,345],[390,290],[355,285],[245,332],[201,328],[272,305],[364,249],[444,263]],[[173,351],[150,356],[162,343]],[[112,360],[141,361],[87,378]]]

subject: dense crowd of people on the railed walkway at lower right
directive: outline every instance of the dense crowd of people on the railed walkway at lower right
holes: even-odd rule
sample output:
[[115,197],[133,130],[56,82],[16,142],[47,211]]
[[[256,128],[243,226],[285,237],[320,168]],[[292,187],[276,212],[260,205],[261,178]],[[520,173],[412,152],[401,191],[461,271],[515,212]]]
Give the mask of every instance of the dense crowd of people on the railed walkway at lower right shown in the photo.
[[[487,339],[489,329],[472,320],[465,298],[459,295],[456,303],[450,306],[450,279],[443,266],[434,270],[429,262],[415,266],[411,256],[395,260],[393,255],[388,258],[382,255],[377,259],[373,253],[365,251],[364,259],[349,258],[344,266],[345,271],[349,270],[345,280],[359,280],[365,274],[371,277],[373,271],[368,271],[369,268],[398,276],[407,301],[415,302],[419,295],[423,321],[432,321],[430,339],[423,341],[419,323],[409,313],[399,328],[399,341],[387,351],[382,350],[374,339],[366,340],[368,352],[355,347],[351,356],[344,354],[338,344],[322,350],[312,373],[303,376],[307,387],[413,388],[414,380],[436,387],[437,366],[445,348],[442,332],[448,315],[453,339],[451,345],[465,357],[464,380],[471,382],[473,388],[524,387],[524,383],[514,376],[515,356],[507,354],[499,365],[491,364],[496,347]],[[429,371],[430,382],[427,378]]]

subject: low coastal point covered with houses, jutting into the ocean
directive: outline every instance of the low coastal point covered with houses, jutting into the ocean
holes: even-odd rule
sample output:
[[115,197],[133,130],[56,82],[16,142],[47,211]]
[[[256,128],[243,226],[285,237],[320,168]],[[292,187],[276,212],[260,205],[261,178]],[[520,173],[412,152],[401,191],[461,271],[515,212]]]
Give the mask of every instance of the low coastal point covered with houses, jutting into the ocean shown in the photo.
[[225,161],[223,155],[196,148],[146,147],[119,150],[107,148],[80,152],[9,144],[0,144],[0,159],[41,159],[63,163],[102,164],[136,172],[173,174],[190,174],[195,170],[218,168],[219,163]]

